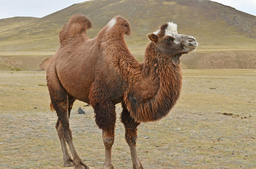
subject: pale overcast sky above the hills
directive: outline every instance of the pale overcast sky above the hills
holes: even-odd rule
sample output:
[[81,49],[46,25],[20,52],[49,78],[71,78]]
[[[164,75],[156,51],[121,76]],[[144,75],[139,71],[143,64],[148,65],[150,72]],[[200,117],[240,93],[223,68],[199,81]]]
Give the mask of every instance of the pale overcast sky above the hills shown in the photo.
[[[0,0],[0,19],[15,16],[44,17],[86,0]],[[213,1],[213,0],[212,0]],[[256,0],[214,0],[256,16]]]

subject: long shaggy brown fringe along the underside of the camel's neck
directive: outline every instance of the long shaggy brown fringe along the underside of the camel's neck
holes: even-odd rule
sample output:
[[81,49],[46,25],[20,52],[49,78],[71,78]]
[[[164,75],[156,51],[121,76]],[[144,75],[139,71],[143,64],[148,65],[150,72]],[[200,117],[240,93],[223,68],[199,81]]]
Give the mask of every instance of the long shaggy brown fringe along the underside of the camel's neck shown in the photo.
[[[182,85],[180,65],[173,65],[170,57],[156,52],[153,43],[147,46],[145,55],[147,60],[144,68],[154,65],[154,73],[157,75],[155,80],[159,81],[159,89],[150,100],[141,101],[143,99],[138,98],[136,89],[124,96],[124,103],[136,122],[157,121],[165,117],[179,99]],[[151,56],[158,56],[157,60],[150,60]]]

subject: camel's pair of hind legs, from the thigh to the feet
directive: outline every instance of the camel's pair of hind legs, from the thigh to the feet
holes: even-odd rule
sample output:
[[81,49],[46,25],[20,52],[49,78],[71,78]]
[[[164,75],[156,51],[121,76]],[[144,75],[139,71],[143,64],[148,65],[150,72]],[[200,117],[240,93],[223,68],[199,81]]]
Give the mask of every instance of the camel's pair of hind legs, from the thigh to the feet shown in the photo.
[[[49,88],[49,93],[51,97],[51,105],[56,110],[58,115],[58,121],[55,127],[58,132],[60,144],[62,145],[64,165],[71,166],[73,162],[75,168],[89,168],[81,161],[81,158],[76,153],[72,141],[72,132],[70,130],[70,123],[68,120],[70,117],[70,110],[75,99],[72,96],[68,95],[62,84],[60,84],[58,78],[55,80],[51,79],[51,81],[47,79],[47,86]],[[66,142],[70,147],[73,161],[68,154]]]

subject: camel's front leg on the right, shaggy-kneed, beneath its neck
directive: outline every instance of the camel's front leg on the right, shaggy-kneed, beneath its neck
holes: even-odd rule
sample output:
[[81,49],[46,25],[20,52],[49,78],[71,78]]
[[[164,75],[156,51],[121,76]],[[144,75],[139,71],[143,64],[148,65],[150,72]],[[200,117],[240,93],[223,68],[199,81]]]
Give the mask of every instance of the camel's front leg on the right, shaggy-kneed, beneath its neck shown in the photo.
[[125,127],[125,140],[127,141],[129,148],[131,150],[132,166],[134,169],[143,169],[142,164],[138,159],[138,154],[136,150],[137,126],[140,123],[134,121],[134,119],[131,117],[130,113],[126,109],[124,103],[122,104],[122,106],[123,112],[121,115],[121,121]]

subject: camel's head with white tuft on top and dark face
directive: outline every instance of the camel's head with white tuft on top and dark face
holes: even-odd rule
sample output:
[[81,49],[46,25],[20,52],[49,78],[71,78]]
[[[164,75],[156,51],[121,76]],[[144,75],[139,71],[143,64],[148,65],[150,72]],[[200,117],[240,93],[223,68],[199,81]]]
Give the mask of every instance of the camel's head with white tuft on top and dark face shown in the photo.
[[177,25],[165,23],[154,33],[147,35],[159,52],[171,57],[181,56],[196,49],[196,39],[189,35],[177,33]]

